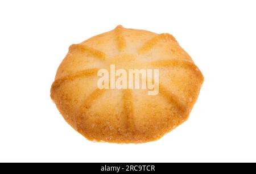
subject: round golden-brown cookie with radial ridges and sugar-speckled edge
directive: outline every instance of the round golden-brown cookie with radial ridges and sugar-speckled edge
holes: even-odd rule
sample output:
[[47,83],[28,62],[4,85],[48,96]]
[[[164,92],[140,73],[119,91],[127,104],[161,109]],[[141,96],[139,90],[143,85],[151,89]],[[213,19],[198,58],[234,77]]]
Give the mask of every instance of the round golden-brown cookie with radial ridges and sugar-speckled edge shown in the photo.
[[[158,69],[158,93],[148,95],[144,88],[99,88],[99,70],[111,71],[110,65],[126,71]],[[69,47],[51,98],[68,124],[89,140],[144,143],[187,120],[203,81],[174,36],[117,26]]]

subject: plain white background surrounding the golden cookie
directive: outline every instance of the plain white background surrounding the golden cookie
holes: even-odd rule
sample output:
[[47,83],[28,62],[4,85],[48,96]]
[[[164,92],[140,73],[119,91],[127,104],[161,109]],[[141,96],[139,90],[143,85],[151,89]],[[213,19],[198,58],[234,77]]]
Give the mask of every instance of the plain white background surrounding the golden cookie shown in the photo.
[[[1,1],[0,162],[256,162],[255,1]],[[114,29],[174,35],[205,77],[156,142],[94,143],[49,97],[71,44]]]

